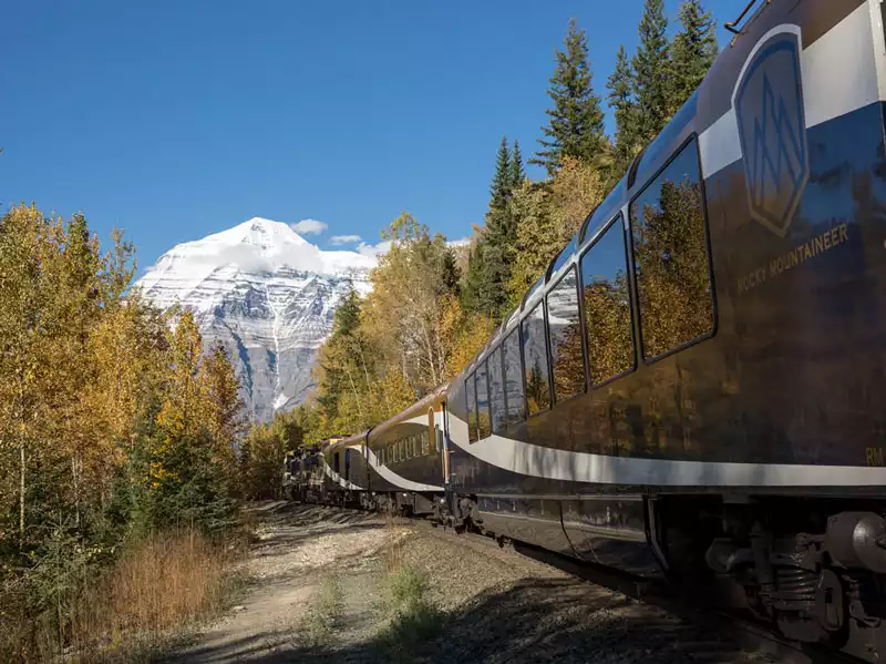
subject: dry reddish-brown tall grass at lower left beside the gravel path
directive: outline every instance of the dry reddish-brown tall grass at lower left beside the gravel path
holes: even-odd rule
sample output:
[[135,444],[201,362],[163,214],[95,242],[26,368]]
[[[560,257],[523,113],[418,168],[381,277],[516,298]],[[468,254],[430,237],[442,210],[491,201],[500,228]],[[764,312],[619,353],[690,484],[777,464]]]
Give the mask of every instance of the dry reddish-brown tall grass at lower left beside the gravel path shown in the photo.
[[[4,616],[0,660],[45,661],[64,653],[91,663],[146,656],[182,627],[220,612],[236,578],[238,549],[224,549],[196,529],[156,533],[133,543],[101,573],[68,589],[56,623]],[[61,604],[60,604],[61,606]]]

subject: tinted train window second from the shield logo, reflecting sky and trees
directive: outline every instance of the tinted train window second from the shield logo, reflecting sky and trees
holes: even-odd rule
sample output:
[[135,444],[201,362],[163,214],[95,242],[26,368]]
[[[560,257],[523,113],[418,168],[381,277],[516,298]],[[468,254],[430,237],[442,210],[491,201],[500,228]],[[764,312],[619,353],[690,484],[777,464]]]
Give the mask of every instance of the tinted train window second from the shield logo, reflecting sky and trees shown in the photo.
[[581,256],[591,385],[633,368],[625,228],[619,215]]

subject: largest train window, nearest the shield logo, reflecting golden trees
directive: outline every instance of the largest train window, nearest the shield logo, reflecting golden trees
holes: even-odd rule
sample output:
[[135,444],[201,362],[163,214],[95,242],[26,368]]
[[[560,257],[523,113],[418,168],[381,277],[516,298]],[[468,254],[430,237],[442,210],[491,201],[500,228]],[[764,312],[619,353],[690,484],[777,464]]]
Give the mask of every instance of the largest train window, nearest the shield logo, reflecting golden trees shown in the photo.
[[643,357],[658,357],[713,329],[704,225],[693,140],[630,205]]

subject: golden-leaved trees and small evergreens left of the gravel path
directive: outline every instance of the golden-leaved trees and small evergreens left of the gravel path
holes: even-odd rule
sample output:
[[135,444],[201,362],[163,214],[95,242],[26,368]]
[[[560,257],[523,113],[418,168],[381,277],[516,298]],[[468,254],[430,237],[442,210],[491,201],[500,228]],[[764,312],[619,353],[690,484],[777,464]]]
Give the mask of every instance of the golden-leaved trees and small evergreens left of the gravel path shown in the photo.
[[80,214],[0,217],[0,604],[32,622],[16,658],[63,647],[74,597],[124,542],[234,513],[230,364],[203,356],[190,314],[172,330],[126,293],[133,249],[112,243]]

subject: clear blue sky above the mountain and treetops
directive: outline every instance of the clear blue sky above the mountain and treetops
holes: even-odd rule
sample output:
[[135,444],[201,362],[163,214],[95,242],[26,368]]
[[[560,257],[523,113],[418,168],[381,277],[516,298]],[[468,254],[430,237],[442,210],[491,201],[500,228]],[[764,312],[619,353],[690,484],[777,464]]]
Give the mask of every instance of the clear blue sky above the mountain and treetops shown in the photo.
[[[676,19],[677,0],[667,0]],[[745,0],[708,0],[722,29]],[[535,151],[575,17],[595,84],[642,0],[12,0],[0,40],[0,202],[82,210],[140,272],[253,216],[320,246],[401,211],[482,223],[503,134]],[[672,20],[672,28],[676,21]],[[607,118],[611,129],[611,120]],[[534,168],[529,175],[540,173]],[[344,247],[353,246],[344,244]]]

